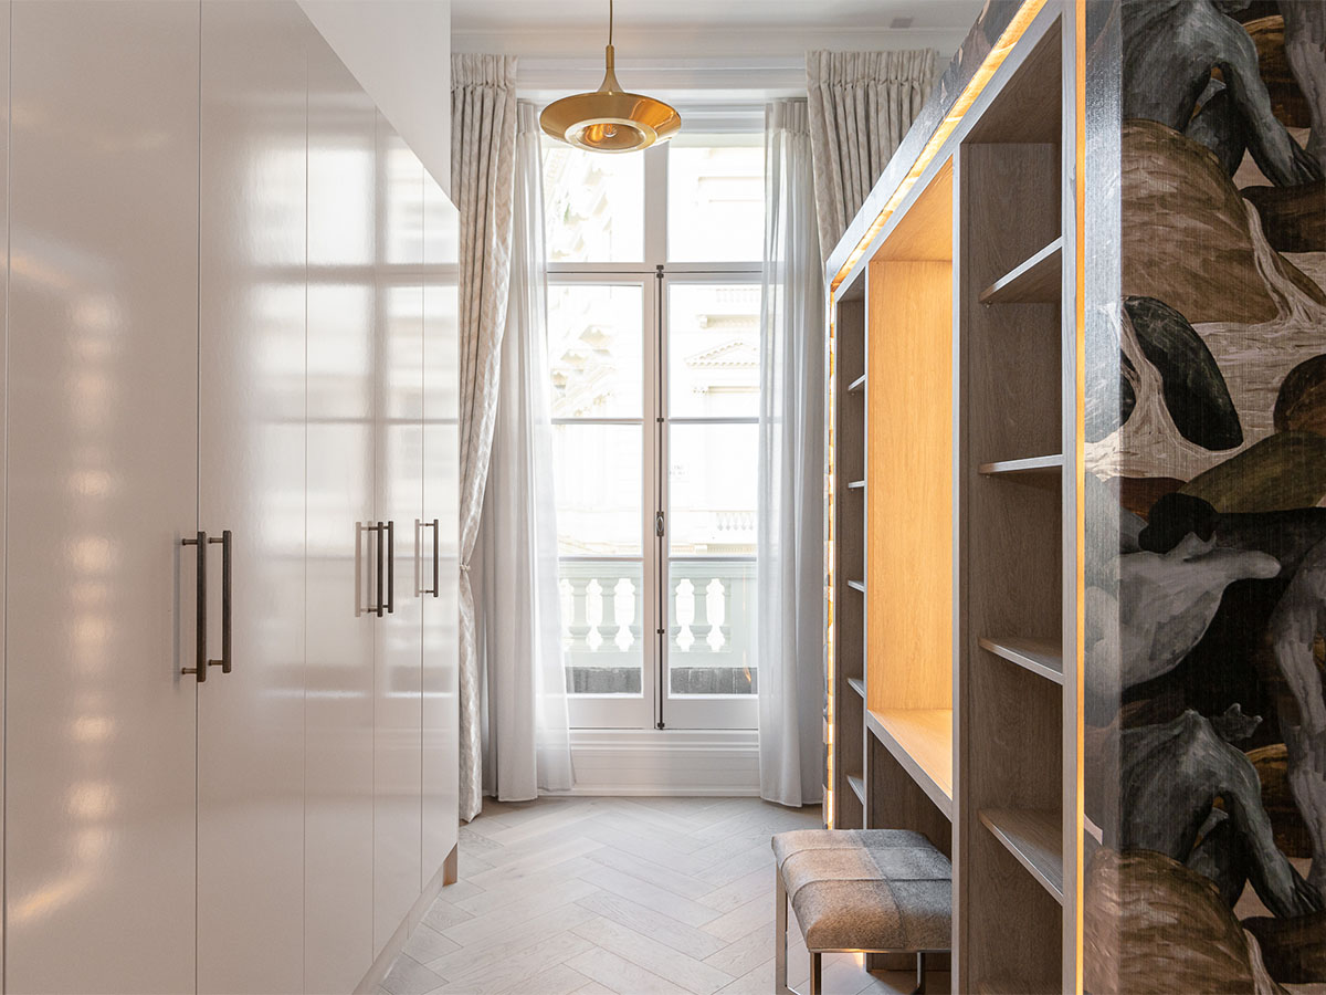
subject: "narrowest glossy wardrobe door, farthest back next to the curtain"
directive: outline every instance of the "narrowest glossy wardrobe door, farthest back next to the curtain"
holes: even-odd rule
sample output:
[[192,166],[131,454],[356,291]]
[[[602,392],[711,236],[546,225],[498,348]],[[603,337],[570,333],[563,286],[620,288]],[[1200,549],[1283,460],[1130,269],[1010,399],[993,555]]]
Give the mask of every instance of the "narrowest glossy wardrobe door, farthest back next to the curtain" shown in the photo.
[[[456,845],[460,711],[460,219],[424,174],[424,588],[423,876],[427,885]],[[436,533],[435,536],[432,533]]]

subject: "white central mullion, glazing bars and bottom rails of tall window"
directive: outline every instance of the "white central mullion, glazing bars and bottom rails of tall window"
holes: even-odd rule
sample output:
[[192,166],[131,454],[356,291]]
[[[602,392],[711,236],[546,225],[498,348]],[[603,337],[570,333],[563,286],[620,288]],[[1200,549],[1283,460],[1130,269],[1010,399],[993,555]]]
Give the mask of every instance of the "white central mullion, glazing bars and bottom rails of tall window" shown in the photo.
[[[627,285],[642,289],[642,329],[644,348],[642,356],[640,418],[554,418],[554,425],[636,425],[643,429],[643,472],[640,495],[642,556],[561,556],[558,560],[642,563],[644,633],[640,696],[625,695],[570,695],[569,718],[572,728],[674,728],[674,730],[754,730],[758,724],[758,696],[697,695],[674,698],[668,693],[670,625],[667,569],[670,563],[670,531],[655,535],[655,516],[671,515],[668,501],[670,426],[757,423],[749,418],[672,418],[667,410],[667,349],[668,289],[674,285],[733,285],[758,284],[761,263],[670,263],[667,261],[667,146],[642,153],[644,157],[644,231],[643,255],[639,263],[550,263],[549,285]],[[650,430],[652,427],[652,431]],[[679,560],[754,560],[754,556],[678,557]],[[758,663],[756,673],[758,674]],[[758,690],[758,689],[757,689]]]

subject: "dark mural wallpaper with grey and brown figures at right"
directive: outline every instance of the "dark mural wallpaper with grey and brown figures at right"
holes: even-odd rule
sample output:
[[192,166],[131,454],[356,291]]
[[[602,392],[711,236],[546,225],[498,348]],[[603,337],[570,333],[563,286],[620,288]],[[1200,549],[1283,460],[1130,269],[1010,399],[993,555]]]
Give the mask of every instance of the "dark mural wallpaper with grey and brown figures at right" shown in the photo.
[[1089,361],[1111,382],[1087,383],[1086,986],[1323,984],[1326,3],[1111,17],[1123,300],[1118,360]]

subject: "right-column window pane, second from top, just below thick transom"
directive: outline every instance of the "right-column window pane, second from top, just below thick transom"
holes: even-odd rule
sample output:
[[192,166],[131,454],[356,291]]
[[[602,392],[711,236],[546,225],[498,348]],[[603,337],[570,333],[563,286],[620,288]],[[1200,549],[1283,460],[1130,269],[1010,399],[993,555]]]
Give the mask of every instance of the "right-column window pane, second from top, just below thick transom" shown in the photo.
[[668,413],[760,417],[760,287],[668,291]]

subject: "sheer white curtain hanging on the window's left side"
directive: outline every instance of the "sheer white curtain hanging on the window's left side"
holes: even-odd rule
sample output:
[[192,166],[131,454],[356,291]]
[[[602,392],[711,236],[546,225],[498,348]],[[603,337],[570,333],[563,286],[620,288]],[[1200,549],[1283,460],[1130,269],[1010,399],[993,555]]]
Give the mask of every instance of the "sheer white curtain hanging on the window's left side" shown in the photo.
[[548,265],[538,115],[516,109],[511,297],[479,528],[487,708],[484,788],[504,801],[572,787],[557,592]]

